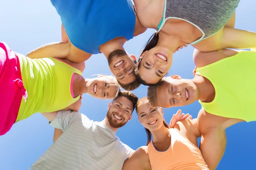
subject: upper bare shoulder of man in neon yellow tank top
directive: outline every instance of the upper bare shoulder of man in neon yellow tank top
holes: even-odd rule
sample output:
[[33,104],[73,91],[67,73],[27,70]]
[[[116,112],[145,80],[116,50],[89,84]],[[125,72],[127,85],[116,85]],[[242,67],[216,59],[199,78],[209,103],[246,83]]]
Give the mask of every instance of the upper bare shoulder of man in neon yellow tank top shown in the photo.
[[236,50],[223,49],[218,51],[202,52],[197,49],[194,50],[193,60],[196,67],[203,67],[221,59],[234,56],[238,53]]

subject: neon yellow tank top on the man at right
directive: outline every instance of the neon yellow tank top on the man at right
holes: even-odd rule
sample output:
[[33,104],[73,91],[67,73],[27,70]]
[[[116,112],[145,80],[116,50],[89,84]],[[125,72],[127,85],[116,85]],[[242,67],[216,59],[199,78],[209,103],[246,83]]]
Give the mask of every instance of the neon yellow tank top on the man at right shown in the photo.
[[197,68],[196,74],[209,79],[215,88],[212,102],[199,100],[205,111],[247,122],[256,120],[256,52],[240,51],[232,57]]

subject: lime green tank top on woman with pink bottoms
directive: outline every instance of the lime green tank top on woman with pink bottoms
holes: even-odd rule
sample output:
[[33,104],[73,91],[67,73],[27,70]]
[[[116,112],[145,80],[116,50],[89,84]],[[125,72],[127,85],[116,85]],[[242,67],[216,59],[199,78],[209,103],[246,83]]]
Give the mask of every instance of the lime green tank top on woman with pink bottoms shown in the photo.
[[28,98],[26,102],[21,100],[16,122],[33,113],[64,109],[80,98],[72,97],[72,77],[74,73],[81,75],[81,71],[54,58],[30,59],[22,54],[17,55]]

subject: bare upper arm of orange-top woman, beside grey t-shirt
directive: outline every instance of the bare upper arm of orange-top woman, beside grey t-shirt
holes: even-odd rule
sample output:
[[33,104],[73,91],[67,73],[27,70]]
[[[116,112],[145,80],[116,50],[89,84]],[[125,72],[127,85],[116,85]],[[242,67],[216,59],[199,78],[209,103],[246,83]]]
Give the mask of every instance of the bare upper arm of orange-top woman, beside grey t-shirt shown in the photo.
[[123,164],[122,170],[151,170],[148,147],[139,147]]

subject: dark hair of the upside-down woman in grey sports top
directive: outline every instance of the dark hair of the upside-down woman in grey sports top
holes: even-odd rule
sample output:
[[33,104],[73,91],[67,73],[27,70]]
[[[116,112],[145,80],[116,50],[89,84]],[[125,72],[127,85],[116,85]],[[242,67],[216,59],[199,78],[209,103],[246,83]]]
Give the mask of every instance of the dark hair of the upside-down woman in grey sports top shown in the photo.
[[[146,43],[145,47],[143,48],[143,51],[141,52],[140,56],[145,52],[150,50],[151,48],[154,48],[157,45],[157,42],[159,40],[159,34],[156,32],[153,35],[151,35],[151,37],[149,38],[148,42]],[[151,84],[151,83],[147,83],[145,82],[143,79],[140,78],[140,74],[139,74],[139,68],[140,68],[140,63],[142,61],[143,57],[139,57],[137,64],[135,65],[134,68],[134,74],[138,80],[138,82],[140,82],[143,85],[147,85],[147,86],[152,86],[152,85],[157,85],[157,83]]]

